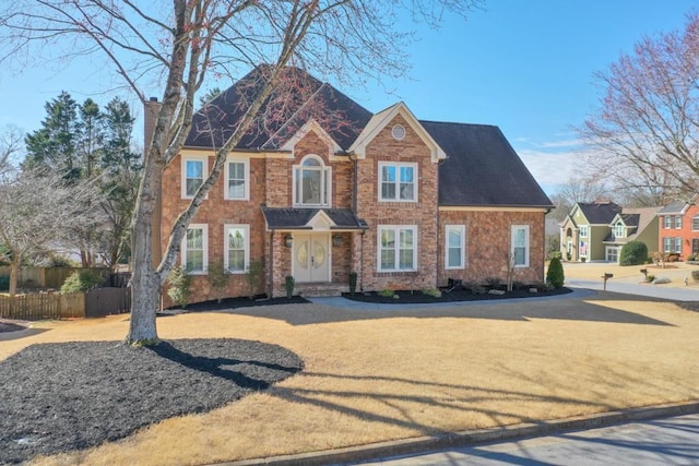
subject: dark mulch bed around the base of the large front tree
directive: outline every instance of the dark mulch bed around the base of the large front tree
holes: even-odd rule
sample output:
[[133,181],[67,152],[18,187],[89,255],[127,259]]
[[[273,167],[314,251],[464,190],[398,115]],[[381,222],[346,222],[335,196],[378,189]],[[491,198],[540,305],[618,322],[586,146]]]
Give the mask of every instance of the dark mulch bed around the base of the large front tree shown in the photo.
[[180,339],[33,345],[0,362],[0,464],[122,439],[203,413],[300,371],[276,345]]

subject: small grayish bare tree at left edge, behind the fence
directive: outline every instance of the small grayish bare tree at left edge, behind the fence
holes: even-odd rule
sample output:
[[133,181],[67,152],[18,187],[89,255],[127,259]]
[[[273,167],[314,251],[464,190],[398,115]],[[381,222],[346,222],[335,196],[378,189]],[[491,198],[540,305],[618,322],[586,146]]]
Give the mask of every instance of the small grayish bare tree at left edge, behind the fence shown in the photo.
[[13,170],[0,180],[0,250],[10,263],[10,296],[17,287],[20,265],[70,241],[75,229],[99,222],[98,189],[88,182],[68,182],[42,169]]

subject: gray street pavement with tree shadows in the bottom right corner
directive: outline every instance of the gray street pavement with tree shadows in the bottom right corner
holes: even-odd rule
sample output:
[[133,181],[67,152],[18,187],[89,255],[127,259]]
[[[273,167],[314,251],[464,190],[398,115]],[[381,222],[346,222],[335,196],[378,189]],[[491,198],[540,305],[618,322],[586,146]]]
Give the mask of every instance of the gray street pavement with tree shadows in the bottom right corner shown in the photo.
[[383,466],[699,465],[699,415],[362,463]]

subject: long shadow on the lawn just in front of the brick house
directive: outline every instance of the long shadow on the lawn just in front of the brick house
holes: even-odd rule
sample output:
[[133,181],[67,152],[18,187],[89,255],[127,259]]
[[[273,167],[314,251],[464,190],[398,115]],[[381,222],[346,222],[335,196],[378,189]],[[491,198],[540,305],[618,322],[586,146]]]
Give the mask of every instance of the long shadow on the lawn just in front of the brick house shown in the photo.
[[[594,300],[595,302],[590,302]],[[298,303],[293,306],[269,306],[256,308],[208,309],[210,312],[229,312],[239,315],[260,316],[287,322],[292,325],[312,325],[334,322],[351,322],[374,319],[495,319],[505,321],[530,322],[533,319],[571,320],[583,322],[608,322],[637,325],[672,325],[640,313],[623,311],[602,306],[604,301],[675,302],[656,298],[637,297],[611,291],[580,291],[561,299],[534,299],[508,302],[507,300],[487,303],[454,302],[453,306],[411,308],[391,306],[381,309],[341,309],[329,306]]]

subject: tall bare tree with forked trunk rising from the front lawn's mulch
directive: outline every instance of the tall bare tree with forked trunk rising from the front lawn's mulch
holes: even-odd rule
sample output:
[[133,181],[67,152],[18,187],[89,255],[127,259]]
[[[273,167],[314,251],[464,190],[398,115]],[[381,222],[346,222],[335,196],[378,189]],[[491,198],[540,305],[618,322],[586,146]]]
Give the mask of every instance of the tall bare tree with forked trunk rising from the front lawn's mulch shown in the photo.
[[[140,7],[133,0],[36,0],[0,11],[0,38],[9,58],[31,56],[35,44],[68,46],[67,52],[102,53],[132,91],[145,100],[143,85],[159,79],[162,104],[146,151],[132,219],[133,303],[127,342],[157,340],[159,291],[173,268],[192,217],[218,178],[228,152],[259,123],[263,104],[288,95],[288,65],[340,82],[362,82],[406,72],[410,32],[395,17],[437,25],[446,11],[465,16],[482,0],[173,0],[169,7]],[[63,39],[61,41],[61,39]],[[38,50],[39,52],[42,50]],[[8,58],[8,57],[5,57]],[[209,74],[239,76],[260,63],[257,92],[238,109],[238,126],[216,148],[206,180],[171,230],[154,263],[151,220],[164,168],[180,152],[191,130],[197,93]],[[289,80],[289,76],[292,77]],[[289,82],[291,81],[291,82]],[[276,108],[265,105],[266,108]]]

